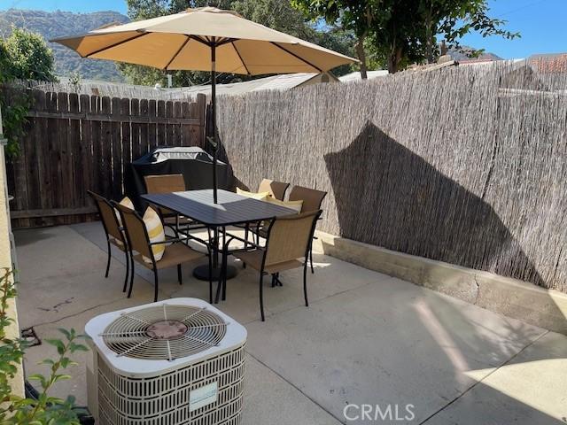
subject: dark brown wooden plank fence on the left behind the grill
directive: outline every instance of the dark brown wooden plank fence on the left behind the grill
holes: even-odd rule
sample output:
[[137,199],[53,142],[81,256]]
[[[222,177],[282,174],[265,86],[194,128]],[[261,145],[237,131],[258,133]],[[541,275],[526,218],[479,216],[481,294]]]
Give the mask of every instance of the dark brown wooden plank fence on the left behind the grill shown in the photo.
[[206,98],[170,102],[32,90],[27,135],[10,162],[14,228],[91,220],[87,189],[120,198],[125,167],[157,145],[203,146]]

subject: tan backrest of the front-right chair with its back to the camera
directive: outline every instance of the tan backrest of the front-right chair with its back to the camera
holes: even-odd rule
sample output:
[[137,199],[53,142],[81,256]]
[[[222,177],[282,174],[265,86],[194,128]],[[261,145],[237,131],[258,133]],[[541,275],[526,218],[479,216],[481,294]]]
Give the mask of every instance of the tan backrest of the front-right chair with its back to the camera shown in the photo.
[[265,265],[306,257],[321,213],[318,210],[272,220],[268,228]]

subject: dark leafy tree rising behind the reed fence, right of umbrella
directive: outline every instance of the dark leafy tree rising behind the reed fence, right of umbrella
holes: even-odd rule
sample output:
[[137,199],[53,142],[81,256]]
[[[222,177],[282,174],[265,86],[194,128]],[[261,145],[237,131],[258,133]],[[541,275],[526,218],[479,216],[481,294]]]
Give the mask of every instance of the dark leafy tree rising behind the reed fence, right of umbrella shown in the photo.
[[[364,44],[388,71],[395,73],[412,62],[432,62],[438,36],[448,47],[471,31],[515,38],[503,29],[506,21],[488,16],[487,0],[291,0],[312,19],[352,29],[358,37],[361,73],[366,62]],[[477,51],[478,53],[478,51]]]

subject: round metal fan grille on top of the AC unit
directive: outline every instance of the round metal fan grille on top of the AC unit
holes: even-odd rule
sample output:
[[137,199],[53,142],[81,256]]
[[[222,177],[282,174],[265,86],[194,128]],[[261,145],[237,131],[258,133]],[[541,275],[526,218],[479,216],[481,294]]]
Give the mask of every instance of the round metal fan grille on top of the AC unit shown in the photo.
[[101,336],[118,356],[174,360],[218,345],[226,330],[206,308],[164,304],[121,314]]

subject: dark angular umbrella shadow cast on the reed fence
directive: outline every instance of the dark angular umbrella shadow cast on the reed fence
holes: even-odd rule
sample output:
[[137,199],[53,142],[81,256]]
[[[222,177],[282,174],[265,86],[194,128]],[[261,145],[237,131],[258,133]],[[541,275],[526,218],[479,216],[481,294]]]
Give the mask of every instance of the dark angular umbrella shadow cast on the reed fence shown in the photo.
[[340,236],[545,286],[490,205],[371,122],[324,158]]

